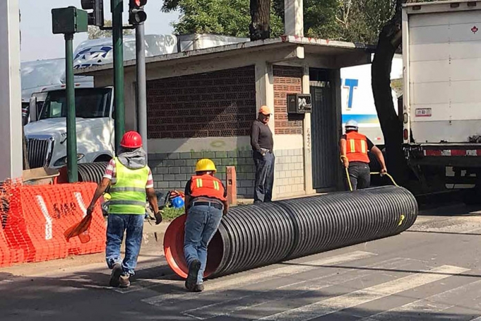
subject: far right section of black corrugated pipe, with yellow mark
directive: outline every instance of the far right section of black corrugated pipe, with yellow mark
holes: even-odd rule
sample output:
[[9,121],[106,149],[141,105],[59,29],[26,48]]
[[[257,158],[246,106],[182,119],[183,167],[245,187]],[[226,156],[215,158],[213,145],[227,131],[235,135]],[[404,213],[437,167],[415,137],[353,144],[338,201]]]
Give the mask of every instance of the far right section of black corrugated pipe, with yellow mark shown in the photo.
[[414,224],[418,213],[414,195],[395,186],[277,203],[291,213],[298,232],[284,259],[399,234]]

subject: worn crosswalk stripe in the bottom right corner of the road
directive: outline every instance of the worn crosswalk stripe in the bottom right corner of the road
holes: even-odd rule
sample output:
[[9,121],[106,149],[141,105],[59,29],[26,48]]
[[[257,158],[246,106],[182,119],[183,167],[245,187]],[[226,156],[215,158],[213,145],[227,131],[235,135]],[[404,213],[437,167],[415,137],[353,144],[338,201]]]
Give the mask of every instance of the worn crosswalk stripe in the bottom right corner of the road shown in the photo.
[[[383,311],[373,316],[368,316],[367,318],[362,318],[358,321],[388,321],[396,320],[402,316],[402,313],[412,313],[417,311],[423,311],[424,314],[427,313],[440,313],[441,311],[450,309],[451,307],[456,307],[456,305],[447,303],[453,302],[453,299],[458,296],[463,296],[471,291],[478,291],[481,293],[481,280],[468,283],[466,285],[461,285],[460,287],[455,287],[454,289],[449,289],[433,296],[423,298],[421,300],[416,300],[410,302],[407,305],[402,305],[401,307],[395,307],[388,311]],[[477,318],[474,320],[481,320]],[[474,321],[471,320],[471,321]]]

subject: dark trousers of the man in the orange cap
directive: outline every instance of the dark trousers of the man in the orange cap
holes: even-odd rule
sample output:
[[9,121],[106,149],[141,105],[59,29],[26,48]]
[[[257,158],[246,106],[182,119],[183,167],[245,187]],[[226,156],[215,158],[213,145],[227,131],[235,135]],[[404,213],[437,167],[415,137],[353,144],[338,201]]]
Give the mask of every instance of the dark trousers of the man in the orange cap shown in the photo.
[[276,157],[273,153],[266,153],[265,156],[262,156],[258,151],[254,151],[254,164],[256,165],[254,202],[267,202],[272,200],[275,162]]

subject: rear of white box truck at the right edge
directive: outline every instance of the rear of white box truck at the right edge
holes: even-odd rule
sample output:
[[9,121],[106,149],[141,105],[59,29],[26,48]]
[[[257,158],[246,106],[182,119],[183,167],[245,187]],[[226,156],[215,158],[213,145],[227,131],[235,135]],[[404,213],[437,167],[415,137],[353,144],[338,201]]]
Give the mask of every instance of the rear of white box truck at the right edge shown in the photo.
[[479,190],[481,1],[405,4],[403,66],[408,164],[426,186]]

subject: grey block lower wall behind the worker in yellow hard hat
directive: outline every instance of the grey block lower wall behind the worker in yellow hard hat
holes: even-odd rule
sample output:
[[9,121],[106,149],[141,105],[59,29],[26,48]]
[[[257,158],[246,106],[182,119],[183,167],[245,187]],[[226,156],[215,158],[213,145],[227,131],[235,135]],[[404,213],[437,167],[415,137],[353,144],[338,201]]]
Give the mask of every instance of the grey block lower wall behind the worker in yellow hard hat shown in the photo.
[[216,164],[216,177],[225,184],[226,166],[236,166],[237,195],[252,198],[254,195],[254,162],[251,151],[216,151],[191,153],[151,153],[148,165],[152,169],[155,189],[172,190],[186,187],[195,173],[195,164],[201,158],[210,158]]

